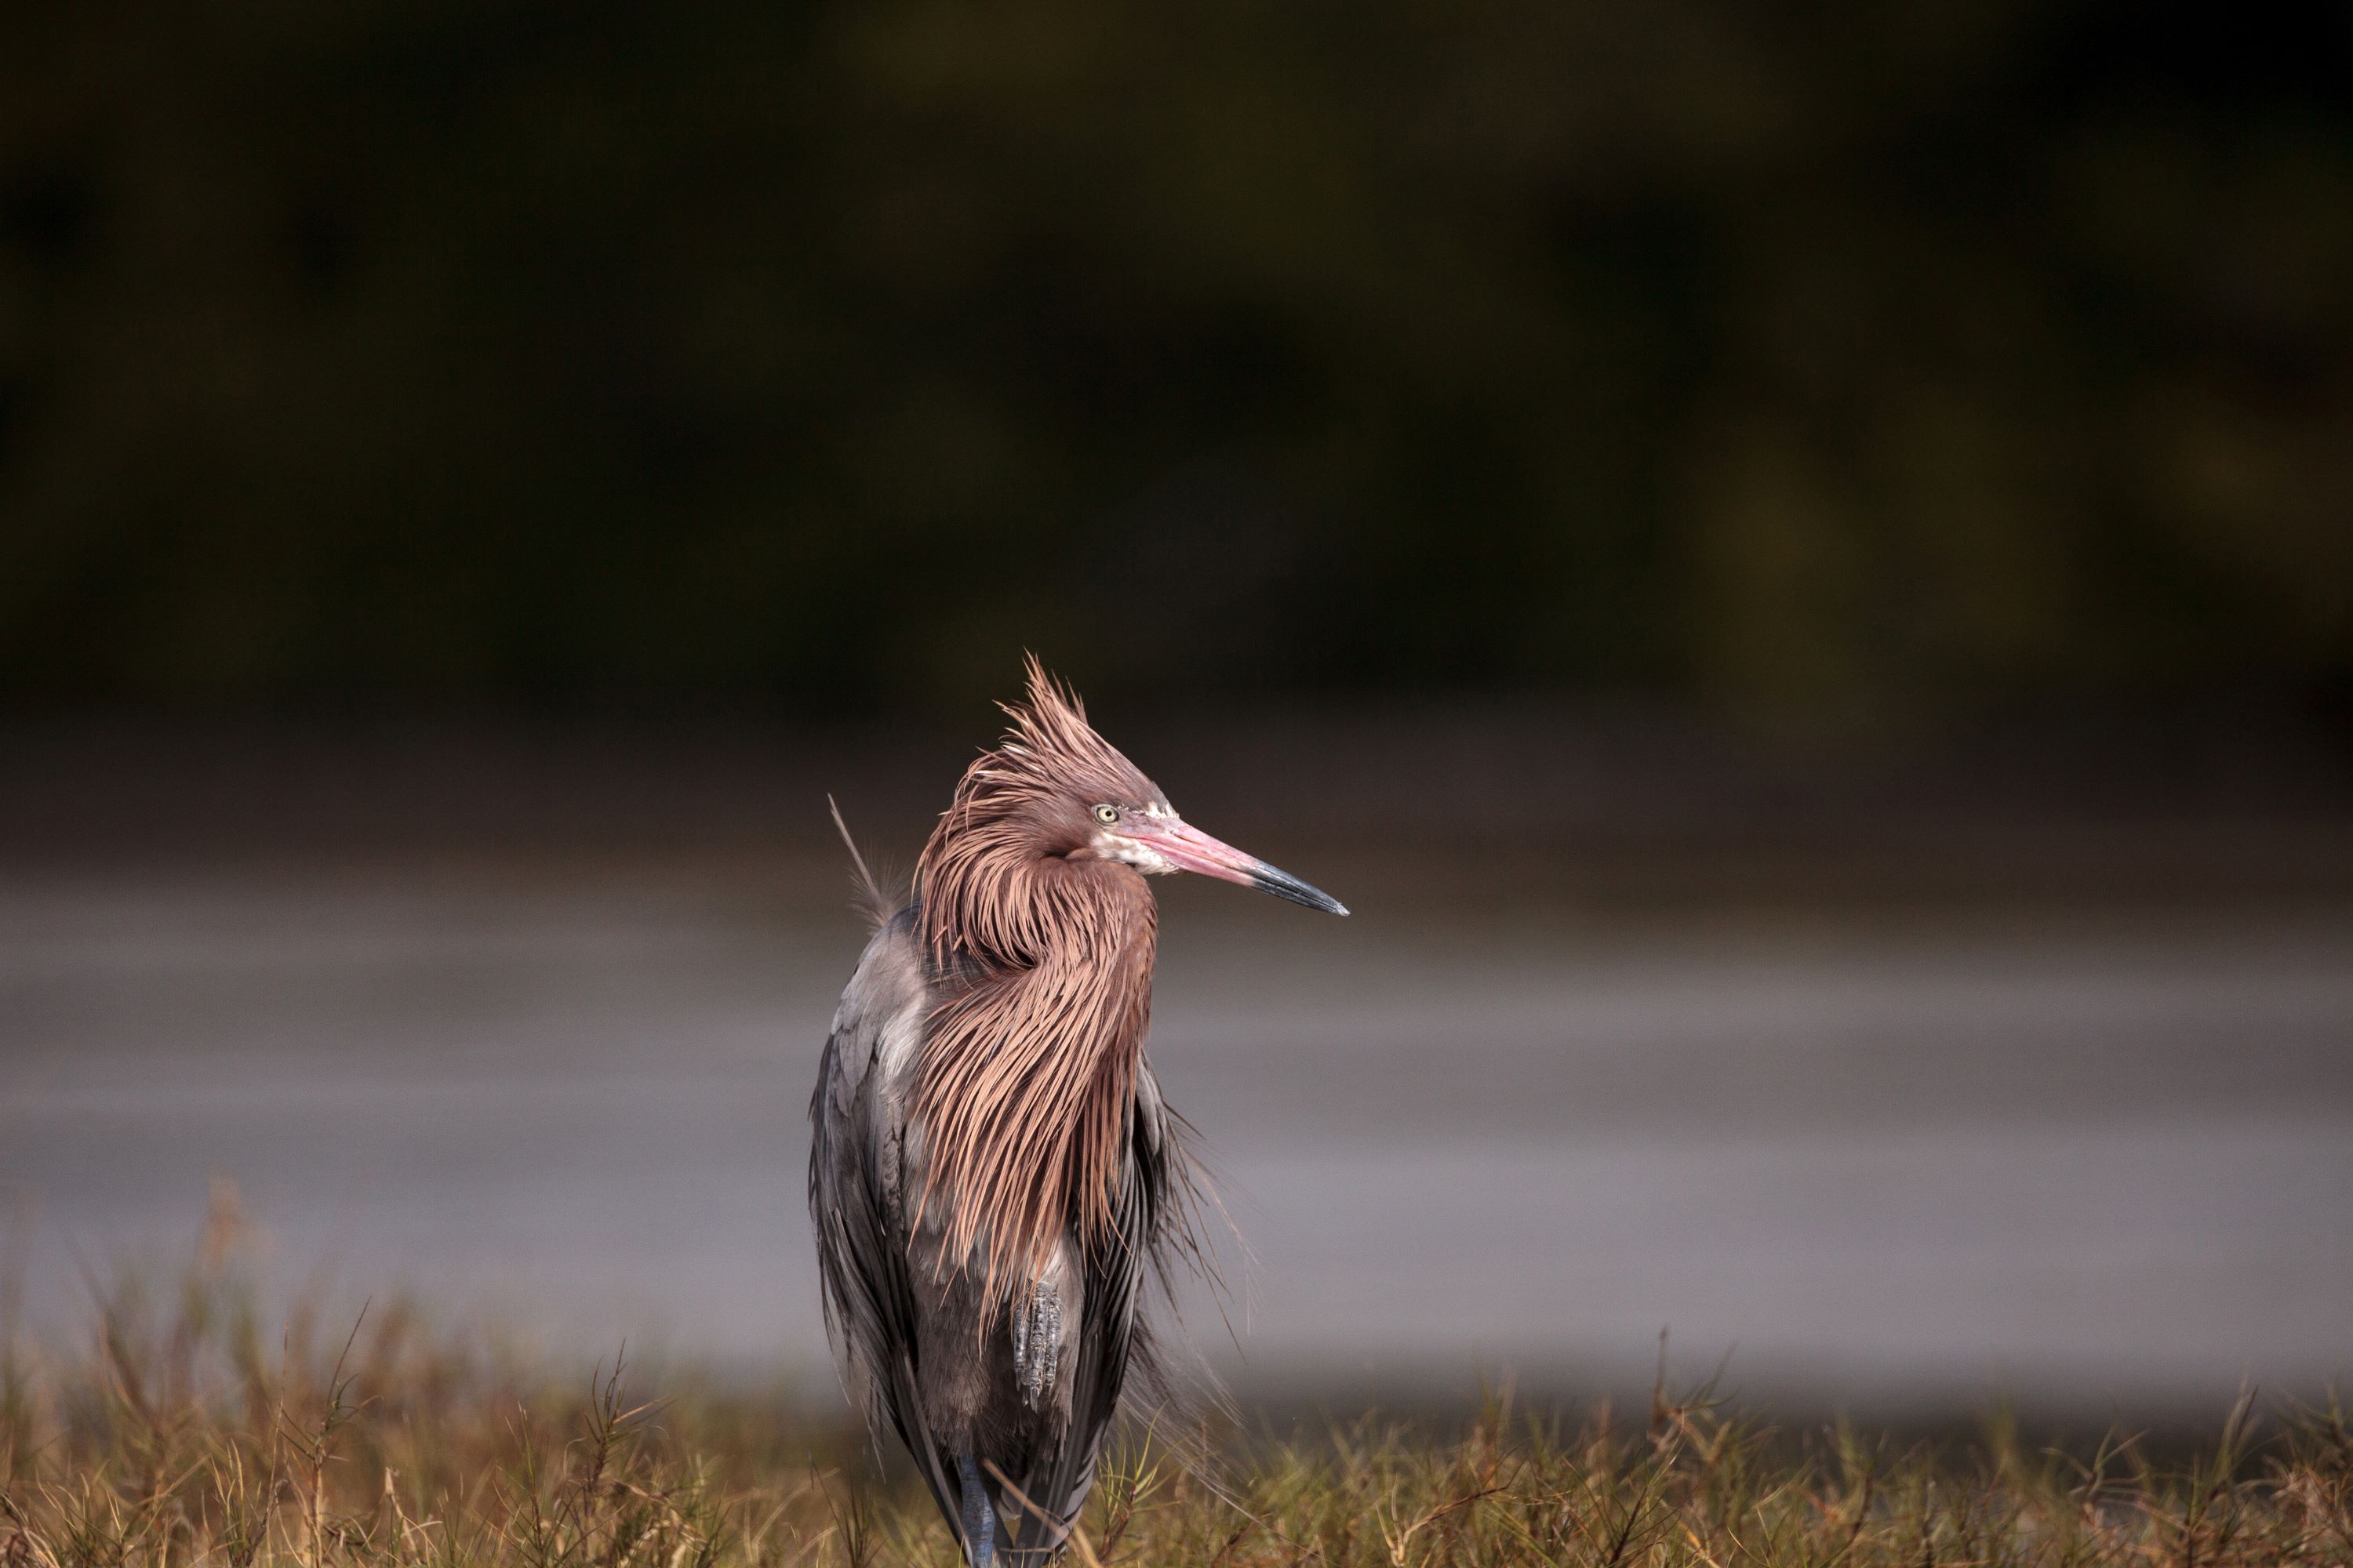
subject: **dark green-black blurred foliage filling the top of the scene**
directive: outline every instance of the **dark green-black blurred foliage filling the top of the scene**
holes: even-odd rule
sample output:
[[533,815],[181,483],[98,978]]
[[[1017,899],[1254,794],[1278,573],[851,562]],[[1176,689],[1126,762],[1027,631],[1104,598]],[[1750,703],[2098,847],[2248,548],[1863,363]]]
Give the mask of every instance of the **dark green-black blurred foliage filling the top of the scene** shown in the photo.
[[2341,691],[2341,7],[104,5],[0,701]]

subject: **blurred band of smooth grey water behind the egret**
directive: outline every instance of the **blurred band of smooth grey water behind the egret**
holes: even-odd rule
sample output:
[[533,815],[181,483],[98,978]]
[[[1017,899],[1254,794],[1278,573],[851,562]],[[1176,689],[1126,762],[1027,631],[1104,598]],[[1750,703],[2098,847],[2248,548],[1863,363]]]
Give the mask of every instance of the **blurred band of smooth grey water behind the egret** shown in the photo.
[[[2339,917],[1417,926],[1341,891],[1351,922],[1198,886],[1165,917],[1153,1060],[1254,1255],[1240,1352],[1193,1316],[1245,1392],[1647,1382],[1661,1324],[1791,1401],[2353,1373]],[[35,1319],[71,1319],[73,1253],[186,1253],[233,1175],[280,1279],[812,1373],[833,907],[16,879],[0,1185]]]

